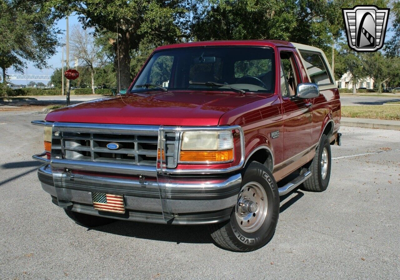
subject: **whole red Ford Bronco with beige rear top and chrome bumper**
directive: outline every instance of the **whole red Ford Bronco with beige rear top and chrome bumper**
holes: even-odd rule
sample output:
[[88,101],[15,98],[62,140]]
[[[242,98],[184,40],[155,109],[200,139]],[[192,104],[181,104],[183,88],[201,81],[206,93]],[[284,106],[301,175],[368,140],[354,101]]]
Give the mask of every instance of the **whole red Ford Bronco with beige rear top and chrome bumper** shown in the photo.
[[208,224],[250,251],[272,238],[280,196],[328,187],[340,99],[318,48],[194,42],[157,48],[125,94],[32,123],[42,188],[76,223]]

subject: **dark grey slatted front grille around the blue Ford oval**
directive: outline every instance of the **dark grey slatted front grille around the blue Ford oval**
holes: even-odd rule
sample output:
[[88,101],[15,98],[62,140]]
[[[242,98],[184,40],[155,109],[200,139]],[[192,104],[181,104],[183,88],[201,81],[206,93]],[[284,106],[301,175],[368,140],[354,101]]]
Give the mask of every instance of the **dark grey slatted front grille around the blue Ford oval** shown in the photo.
[[[58,137],[54,135],[57,128],[54,127],[52,138],[52,157],[73,159],[80,161],[124,163],[132,165],[156,166],[158,131],[143,131],[134,133],[126,131],[124,133],[107,133],[101,130],[77,129],[73,127],[62,128]],[[61,129],[60,129],[61,130]],[[166,167],[176,167],[177,147],[179,135],[176,132],[167,132],[166,139]],[[119,149],[112,150],[107,148],[108,143],[118,143]]]

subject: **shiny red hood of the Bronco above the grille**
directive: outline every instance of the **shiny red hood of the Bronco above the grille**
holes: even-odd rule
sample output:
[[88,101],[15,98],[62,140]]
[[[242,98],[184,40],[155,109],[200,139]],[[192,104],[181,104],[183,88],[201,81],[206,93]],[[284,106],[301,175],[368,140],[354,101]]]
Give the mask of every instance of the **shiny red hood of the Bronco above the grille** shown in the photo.
[[135,125],[218,125],[236,107],[263,98],[220,91],[128,93],[54,110],[46,121]]

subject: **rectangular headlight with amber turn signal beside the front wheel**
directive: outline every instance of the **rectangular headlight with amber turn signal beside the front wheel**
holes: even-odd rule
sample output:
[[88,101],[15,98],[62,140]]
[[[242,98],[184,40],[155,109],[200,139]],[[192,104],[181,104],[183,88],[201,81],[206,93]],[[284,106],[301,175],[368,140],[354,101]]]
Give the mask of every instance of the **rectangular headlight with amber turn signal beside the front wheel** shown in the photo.
[[233,160],[232,131],[186,131],[182,136],[181,162],[218,163]]

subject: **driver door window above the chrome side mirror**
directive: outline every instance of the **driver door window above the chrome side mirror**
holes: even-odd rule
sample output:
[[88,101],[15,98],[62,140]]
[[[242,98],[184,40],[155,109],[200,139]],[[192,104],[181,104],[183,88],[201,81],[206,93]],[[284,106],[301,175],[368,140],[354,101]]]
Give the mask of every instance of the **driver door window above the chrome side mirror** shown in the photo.
[[296,95],[297,75],[292,52],[280,52],[280,84],[282,96]]

